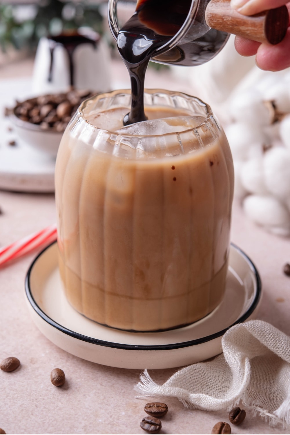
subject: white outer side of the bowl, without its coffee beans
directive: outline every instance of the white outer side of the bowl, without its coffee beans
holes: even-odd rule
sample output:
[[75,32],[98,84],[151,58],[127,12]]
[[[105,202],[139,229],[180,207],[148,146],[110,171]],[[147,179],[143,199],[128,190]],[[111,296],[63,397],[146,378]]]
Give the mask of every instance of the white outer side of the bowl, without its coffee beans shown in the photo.
[[10,115],[15,132],[27,145],[55,158],[63,132],[50,128],[42,130],[39,125],[23,121],[13,112]]

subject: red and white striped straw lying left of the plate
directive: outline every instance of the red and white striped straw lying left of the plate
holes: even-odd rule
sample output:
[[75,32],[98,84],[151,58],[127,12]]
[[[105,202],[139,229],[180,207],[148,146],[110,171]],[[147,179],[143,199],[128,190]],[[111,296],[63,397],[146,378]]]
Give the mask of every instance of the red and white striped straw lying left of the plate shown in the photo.
[[50,244],[56,239],[57,227],[56,224],[53,224],[4,248],[0,248],[0,266],[7,263],[7,261],[15,260],[16,258],[28,254],[28,252],[39,248],[43,244]]

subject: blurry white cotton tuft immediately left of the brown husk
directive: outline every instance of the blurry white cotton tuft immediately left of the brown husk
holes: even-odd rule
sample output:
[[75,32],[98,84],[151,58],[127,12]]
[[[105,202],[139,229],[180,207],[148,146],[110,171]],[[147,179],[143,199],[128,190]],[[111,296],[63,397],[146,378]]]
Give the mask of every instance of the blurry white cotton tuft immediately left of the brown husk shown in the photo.
[[230,103],[230,114],[237,122],[258,126],[269,125],[273,120],[273,110],[269,110],[255,89],[237,94]]

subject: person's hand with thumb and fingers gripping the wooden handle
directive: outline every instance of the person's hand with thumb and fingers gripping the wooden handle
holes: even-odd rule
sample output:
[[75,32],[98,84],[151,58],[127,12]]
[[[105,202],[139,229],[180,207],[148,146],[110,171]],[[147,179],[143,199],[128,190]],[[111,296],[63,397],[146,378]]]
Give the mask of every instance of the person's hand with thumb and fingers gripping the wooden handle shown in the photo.
[[[290,13],[288,0],[231,0],[230,5],[243,15],[254,15],[268,9],[286,4]],[[250,41],[237,36],[235,47],[242,56],[256,54],[256,63],[262,70],[280,71],[290,67],[290,27],[283,41],[277,45]]]

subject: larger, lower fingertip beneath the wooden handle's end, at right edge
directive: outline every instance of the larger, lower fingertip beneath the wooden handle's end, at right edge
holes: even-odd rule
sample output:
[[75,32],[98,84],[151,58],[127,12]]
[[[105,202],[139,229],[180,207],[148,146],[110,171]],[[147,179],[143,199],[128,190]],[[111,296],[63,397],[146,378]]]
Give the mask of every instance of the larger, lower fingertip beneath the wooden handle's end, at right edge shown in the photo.
[[257,50],[256,62],[259,68],[280,71],[290,67],[290,28],[280,44],[269,46],[261,44]]

